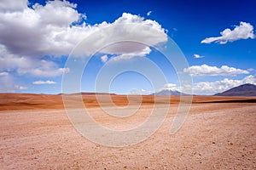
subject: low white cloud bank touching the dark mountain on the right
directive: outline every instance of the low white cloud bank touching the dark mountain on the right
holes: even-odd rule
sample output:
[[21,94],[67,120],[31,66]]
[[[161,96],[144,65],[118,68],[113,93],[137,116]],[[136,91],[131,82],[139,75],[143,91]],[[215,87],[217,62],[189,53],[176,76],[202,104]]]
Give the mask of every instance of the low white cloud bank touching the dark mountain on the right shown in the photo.
[[[193,85],[192,89],[194,94],[218,94],[246,83],[256,85],[256,76],[250,75],[241,80],[224,78],[216,82],[198,82]],[[186,93],[185,88],[183,92]]]

